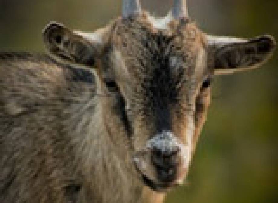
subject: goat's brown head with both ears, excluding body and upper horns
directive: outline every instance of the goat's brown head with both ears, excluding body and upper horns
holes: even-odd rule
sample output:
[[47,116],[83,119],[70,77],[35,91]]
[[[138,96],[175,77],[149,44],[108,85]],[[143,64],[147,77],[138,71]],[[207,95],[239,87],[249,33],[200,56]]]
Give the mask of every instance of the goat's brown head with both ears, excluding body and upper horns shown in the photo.
[[212,76],[261,64],[275,42],[271,36],[206,35],[176,9],[163,20],[136,4],[126,9],[91,34],[50,23],[44,41],[55,58],[92,70],[117,153],[128,151],[145,184],[167,189],[188,171],[210,103]]

